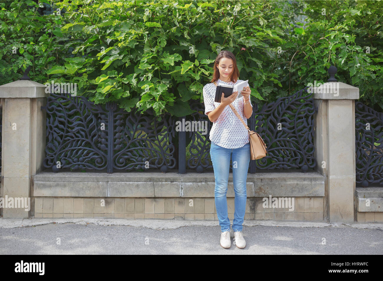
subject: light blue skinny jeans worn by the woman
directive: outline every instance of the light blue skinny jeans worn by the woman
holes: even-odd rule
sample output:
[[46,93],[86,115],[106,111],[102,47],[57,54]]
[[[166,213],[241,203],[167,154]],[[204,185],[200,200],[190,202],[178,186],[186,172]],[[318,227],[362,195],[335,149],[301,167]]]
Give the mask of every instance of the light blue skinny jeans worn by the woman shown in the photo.
[[[231,155],[232,154],[232,155]],[[234,220],[233,231],[242,231],[242,223],[246,209],[246,179],[250,163],[250,143],[239,148],[224,148],[211,142],[210,157],[213,162],[215,188],[214,200],[221,231],[230,230],[228,217],[228,180],[230,171],[230,156],[232,158],[234,185]]]

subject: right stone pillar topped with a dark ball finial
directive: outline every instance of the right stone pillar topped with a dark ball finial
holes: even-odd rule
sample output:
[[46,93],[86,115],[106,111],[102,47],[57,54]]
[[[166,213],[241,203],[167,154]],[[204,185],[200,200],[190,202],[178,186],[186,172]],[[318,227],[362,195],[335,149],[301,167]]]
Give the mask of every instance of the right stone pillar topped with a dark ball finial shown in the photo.
[[318,112],[314,116],[317,171],[326,176],[324,216],[330,223],[354,222],[355,194],[355,99],[359,88],[337,82],[336,67],[330,78],[313,85]]

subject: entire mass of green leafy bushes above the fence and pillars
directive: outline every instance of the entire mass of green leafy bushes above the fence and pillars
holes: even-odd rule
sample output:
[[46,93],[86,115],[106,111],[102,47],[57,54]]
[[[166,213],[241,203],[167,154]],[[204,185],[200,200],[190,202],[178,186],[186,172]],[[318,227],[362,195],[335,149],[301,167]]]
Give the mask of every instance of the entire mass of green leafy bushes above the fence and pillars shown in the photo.
[[[52,7],[61,16],[39,16],[32,1],[6,4],[2,84],[31,65],[33,80],[77,83],[96,103],[183,116],[190,100],[203,101],[214,58],[229,50],[257,103],[326,82],[335,65],[338,81],[383,109],[379,1],[63,0]],[[14,45],[18,54],[10,54]]]

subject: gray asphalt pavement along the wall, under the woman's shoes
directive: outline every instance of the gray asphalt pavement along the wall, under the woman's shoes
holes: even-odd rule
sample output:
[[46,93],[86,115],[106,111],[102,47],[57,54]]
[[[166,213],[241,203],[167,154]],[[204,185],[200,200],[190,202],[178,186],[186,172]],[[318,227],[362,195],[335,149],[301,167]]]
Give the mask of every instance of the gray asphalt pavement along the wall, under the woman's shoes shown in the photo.
[[245,221],[245,249],[223,249],[220,233],[216,221],[0,218],[0,254],[383,254],[382,223]]

